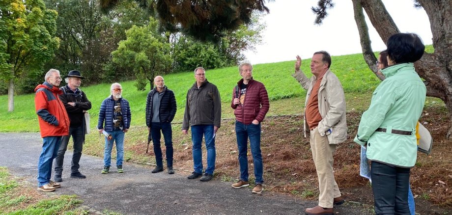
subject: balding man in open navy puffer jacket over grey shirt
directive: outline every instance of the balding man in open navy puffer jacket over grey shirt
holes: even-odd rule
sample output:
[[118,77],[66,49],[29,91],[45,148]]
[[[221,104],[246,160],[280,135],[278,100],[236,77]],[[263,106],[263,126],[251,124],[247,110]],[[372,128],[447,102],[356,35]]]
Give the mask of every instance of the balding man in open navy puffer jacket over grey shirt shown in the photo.
[[177,110],[176,98],[172,90],[165,86],[162,76],[154,78],[154,85],[155,88],[147,94],[146,100],[146,126],[152,136],[156,162],[152,173],[163,171],[162,148],[160,147],[160,131],[162,131],[165,138],[168,174],[174,174],[171,122]]

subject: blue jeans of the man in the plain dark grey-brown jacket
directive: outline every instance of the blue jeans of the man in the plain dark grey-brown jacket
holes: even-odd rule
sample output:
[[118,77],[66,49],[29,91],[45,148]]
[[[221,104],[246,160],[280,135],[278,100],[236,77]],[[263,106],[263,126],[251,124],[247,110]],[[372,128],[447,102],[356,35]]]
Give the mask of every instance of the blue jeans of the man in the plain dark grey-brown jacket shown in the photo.
[[195,125],[192,126],[192,142],[193,142],[193,168],[195,172],[202,174],[202,136],[205,139],[205,148],[207,150],[207,168],[206,173],[212,174],[215,170],[215,136],[213,125]]

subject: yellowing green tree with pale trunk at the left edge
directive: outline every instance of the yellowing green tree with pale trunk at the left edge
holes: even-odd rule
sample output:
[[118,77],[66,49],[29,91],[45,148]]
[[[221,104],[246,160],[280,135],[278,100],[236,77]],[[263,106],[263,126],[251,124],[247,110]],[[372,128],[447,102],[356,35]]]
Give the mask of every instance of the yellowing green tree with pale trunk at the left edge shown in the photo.
[[0,79],[8,82],[8,111],[14,110],[15,79],[42,75],[54,56],[56,19],[42,0],[0,0]]

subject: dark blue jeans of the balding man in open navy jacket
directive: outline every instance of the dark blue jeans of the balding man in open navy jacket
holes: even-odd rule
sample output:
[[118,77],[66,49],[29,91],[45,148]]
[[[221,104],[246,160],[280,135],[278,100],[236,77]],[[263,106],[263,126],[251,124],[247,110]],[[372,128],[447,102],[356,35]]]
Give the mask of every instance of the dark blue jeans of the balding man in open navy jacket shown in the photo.
[[158,166],[163,166],[162,148],[160,148],[160,131],[165,138],[165,148],[167,155],[167,166],[172,166],[172,129],[170,122],[153,122],[151,124],[151,136],[154,146],[155,162]]

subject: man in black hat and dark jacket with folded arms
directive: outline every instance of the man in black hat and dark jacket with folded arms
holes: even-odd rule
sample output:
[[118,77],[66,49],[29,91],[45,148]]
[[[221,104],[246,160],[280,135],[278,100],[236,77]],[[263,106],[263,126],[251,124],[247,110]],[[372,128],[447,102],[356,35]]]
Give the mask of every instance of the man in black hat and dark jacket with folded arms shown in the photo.
[[62,181],[61,174],[63,172],[64,153],[66,152],[69,137],[71,135],[74,142],[71,178],[86,178],[86,176],[79,171],[79,161],[82,157],[83,143],[85,142],[86,134],[85,112],[91,109],[91,102],[86,97],[85,92],[79,89],[82,79],[84,79],[79,71],[72,70],[64,78],[67,85],[60,88],[63,91],[63,94],[59,95],[59,99],[64,104],[71,123],[69,126],[69,135],[63,136],[61,139],[61,145],[58,150],[57,158],[55,159],[55,182]]

